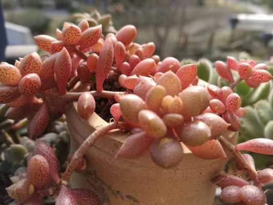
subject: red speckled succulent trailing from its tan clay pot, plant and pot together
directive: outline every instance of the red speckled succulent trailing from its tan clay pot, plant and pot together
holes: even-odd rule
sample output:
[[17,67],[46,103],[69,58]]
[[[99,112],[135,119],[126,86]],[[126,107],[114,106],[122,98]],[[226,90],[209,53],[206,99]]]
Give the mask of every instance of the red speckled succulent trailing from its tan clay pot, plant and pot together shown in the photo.
[[[160,61],[155,45],[134,43],[136,35],[127,25],[104,36],[101,25],[82,19],[57,29],[57,38],[34,37],[48,56],[1,63],[0,103],[10,107],[7,117],[27,117],[29,137],[36,139],[27,168],[7,188],[15,203],[43,204],[56,194],[57,205],[210,204],[217,185],[222,202],[266,204],[261,188],[273,171],[257,172],[240,151],[273,154],[273,141],[235,146],[245,110],[233,91],[242,80],[249,86],[269,81],[266,67],[217,61],[218,74],[230,83],[220,88],[199,81],[195,64]],[[64,113],[71,155],[60,174],[54,150],[38,137]],[[249,178],[221,174],[230,155]]]

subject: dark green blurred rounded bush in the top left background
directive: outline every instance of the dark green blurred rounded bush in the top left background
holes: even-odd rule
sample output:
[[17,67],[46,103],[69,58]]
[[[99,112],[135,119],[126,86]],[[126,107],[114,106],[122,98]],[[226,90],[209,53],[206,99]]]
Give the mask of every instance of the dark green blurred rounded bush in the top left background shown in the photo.
[[46,33],[51,19],[36,9],[26,9],[22,13],[11,12],[6,20],[29,27],[33,35]]

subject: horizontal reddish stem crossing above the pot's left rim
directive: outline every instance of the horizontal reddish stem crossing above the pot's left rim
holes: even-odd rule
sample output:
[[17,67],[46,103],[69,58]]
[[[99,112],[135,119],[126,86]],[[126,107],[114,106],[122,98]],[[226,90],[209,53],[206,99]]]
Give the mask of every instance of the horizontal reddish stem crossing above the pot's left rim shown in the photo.
[[[77,100],[79,96],[84,92],[68,92],[65,95],[60,95],[59,93],[49,93],[47,94],[47,97],[54,97],[58,99],[65,99],[65,100]],[[112,91],[89,91],[88,93],[92,94],[94,97],[102,97],[102,98],[109,98],[113,99],[115,98],[115,95],[123,95],[123,92],[112,92]]]

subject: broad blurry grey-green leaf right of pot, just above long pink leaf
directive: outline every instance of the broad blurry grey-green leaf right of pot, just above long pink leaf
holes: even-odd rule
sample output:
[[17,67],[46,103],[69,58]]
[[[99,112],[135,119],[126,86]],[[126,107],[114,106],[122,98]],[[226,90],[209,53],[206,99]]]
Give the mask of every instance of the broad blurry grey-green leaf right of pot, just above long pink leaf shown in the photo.
[[264,126],[262,125],[258,112],[250,107],[245,107],[246,113],[240,118],[242,125],[240,129],[240,133],[246,139],[253,139],[259,136],[263,136]]

